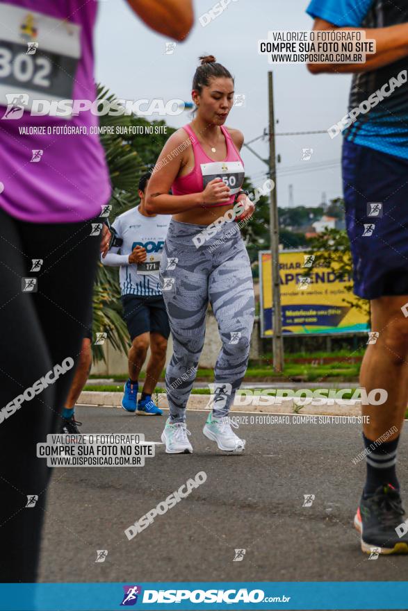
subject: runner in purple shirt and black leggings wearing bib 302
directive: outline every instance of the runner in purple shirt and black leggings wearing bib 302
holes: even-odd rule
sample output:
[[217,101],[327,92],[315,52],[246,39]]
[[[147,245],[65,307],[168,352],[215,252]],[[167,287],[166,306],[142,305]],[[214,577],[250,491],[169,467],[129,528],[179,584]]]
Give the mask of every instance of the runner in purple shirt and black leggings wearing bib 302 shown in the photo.
[[[127,1],[155,31],[180,41],[188,35],[191,0]],[[99,250],[107,250],[98,217],[111,185],[91,133],[97,115],[72,113],[67,103],[65,117],[34,115],[38,100],[54,110],[62,101],[95,101],[96,17],[95,0],[0,0],[3,582],[36,578],[49,480],[36,444],[60,429]]]

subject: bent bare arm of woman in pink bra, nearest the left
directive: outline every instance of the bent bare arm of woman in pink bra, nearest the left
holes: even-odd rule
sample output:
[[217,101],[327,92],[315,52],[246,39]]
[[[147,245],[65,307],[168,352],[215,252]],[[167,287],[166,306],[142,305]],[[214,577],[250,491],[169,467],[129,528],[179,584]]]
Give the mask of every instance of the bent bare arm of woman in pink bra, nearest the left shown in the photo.
[[152,178],[147,183],[145,207],[149,214],[175,215],[205,203],[221,203],[229,199],[229,187],[222,182],[221,178],[215,178],[206,185],[204,191],[199,193],[169,195],[170,187],[177,178],[181,167],[187,162],[188,148],[183,153],[177,154],[178,147],[186,146],[185,134],[183,130],[172,134],[158,157]]

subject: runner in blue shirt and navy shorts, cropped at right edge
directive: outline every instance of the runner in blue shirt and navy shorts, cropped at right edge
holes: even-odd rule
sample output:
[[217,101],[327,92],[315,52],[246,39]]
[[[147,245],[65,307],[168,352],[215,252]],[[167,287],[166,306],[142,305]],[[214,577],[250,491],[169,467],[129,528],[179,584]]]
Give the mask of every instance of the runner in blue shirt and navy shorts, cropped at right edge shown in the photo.
[[[354,526],[361,549],[408,553],[397,446],[408,403],[408,3],[407,0],[312,0],[314,30],[364,31],[376,51],[364,64],[310,64],[313,74],[352,73],[348,115],[329,128],[343,132],[345,218],[354,293],[370,300],[379,335],[361,365],[360,385],[387,392],[363,406],[367,476]],[[376,334],[377,335],[377,334]]]

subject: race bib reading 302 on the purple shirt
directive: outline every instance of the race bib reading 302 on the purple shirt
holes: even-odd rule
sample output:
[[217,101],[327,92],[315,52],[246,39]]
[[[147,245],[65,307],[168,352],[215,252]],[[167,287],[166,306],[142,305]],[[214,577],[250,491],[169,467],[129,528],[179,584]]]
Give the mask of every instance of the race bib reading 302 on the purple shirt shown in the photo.
[[81,57],[81,27],[10,4],[0,4],[0,104],[10,96],[72,99]]

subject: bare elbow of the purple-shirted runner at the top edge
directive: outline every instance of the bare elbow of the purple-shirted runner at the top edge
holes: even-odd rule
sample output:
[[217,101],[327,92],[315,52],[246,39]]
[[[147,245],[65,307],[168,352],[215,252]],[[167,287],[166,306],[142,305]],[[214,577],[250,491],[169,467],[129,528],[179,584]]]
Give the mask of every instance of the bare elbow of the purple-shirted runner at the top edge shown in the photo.
[[184,40],[193,27],[192,0],[127,0],[127,3],[147,26],[175,40]]

